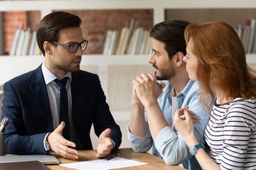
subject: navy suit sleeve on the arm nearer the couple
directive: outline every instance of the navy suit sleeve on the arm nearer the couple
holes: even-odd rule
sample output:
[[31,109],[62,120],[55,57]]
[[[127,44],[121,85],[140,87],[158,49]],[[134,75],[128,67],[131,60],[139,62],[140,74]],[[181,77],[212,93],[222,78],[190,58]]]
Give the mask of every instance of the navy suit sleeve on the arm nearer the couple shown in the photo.
[[98,75],[96,75],[95,84],[97,86],[95,117],[93,121],[93,126],[95,127],[95,133],[97,136],[99,136],[105,129],[110,128],[111,129],[110,138],[115,142],[114,149],[117,149],[119,148],[122,142],[122,133],[120,131],[120,127],[116,124],[113,116],[111,115]]

